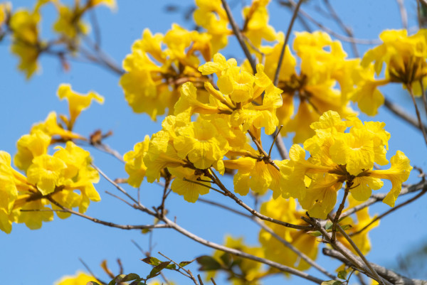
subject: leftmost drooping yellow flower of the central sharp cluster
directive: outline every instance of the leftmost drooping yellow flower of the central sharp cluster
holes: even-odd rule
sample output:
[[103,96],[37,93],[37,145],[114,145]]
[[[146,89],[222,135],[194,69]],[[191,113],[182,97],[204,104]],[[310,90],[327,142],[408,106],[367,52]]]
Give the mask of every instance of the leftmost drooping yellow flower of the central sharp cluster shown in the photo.
[[125,171],[129,174],[127,183],[132,187],[138,188],[145,176],[147,166],[145,166],[143,158],[144,154],[148,151],[149,136],[144,137],[144,141],[141,141],[134,146],[133,151],[128,151],[123,159],[126,162]]

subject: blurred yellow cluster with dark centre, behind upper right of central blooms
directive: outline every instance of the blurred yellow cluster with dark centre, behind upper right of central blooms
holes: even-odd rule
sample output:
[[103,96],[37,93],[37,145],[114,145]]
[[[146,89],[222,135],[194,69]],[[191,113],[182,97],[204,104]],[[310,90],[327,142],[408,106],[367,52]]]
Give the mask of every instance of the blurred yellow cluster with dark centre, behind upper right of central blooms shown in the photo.
[[[273,47],[260,48],[265,54],[265,74],[270,78],[274,78],[278,68],[283,33],[278,34],[277,40]],[[347,59],[341,43],[320,31],[295,33],[293,50],[300,58],[300,65],[297,66],[297,59],[287,47],[278,81],[278,87],[283,90],[278,118],[284,126],[282,134],[295,132],[293,141],[300,143],[314,134],[309,126],[323,112],[333,110],[344,117],[355,114],[349,107],[349,98],[354,91],[354,73],[359,60]],[[248,63],[245,66],[251,70]],[[295,97],[299,101],[297,112]]]

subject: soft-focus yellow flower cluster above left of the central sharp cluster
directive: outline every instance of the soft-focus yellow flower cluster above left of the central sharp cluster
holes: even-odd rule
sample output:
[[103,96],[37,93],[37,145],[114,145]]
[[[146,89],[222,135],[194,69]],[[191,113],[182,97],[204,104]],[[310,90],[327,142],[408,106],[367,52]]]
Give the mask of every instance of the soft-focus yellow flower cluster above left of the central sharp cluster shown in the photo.
[[132,110],[147,113],[152,119],[164,114],[165,109],[172,114],[182,84],[191,81],[203,86],[207,80],[197,71],[197,55],[201,53],[209,60],[214,52],[211,43],[207,33],[187,31],[176,24],[165,35],[152,35],[145,29],[142,39],[132,45],[132,53],[123,60],[126,73],[120,78]]

